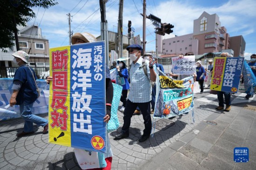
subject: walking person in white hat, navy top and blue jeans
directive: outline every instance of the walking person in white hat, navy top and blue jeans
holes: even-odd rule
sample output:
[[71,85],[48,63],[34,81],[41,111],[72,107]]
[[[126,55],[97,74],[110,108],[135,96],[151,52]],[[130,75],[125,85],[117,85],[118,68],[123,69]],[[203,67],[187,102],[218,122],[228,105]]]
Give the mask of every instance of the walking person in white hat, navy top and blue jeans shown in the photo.
[[20,115],[25,120],[24,130],[18,133],[17,137],[33,134],[33,123],[44,128],[43,134],[47,133],[48,120],[32,113],[32,107],[34,101],[37,99],[38,92],[37,85],[35,84],[35,72],[28,66],[29,56],[27,52],[21,50],[14,52],[12,55],[14,57],[13,62],[19,65],[19,68],[14,74],[13,93],[9,103],[12,107],[14,105],[20,105]]

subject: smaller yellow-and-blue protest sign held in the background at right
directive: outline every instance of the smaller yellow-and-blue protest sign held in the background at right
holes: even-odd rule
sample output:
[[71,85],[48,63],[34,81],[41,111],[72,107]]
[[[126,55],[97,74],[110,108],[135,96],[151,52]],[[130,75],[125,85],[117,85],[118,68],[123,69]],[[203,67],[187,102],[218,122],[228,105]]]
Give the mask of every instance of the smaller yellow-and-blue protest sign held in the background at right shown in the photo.
[[243,69],[243,57],[214,58],[210,89],[237,93]]

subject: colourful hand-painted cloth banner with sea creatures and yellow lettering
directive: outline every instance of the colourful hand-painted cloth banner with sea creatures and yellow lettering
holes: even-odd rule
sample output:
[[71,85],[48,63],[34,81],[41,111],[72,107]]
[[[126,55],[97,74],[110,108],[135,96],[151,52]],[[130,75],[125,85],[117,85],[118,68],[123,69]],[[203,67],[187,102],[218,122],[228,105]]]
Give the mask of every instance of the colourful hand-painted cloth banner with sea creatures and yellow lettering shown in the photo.
[[189,112],[194,105],[193,77],[175,80],[159,69],[156,76],[156,102],[153,118],[170,118]]

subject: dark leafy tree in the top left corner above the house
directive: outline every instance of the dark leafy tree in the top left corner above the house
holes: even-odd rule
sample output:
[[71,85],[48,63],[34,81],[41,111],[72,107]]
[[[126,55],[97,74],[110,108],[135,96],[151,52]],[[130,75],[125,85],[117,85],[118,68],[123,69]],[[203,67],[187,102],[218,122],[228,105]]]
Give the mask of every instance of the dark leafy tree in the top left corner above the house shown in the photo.
[[56,0],[1,0],[0,2],[0,48],[14,46],[15,34],[19,33],[17,25],[35,18],[32,7],[48,8],[57,5]]

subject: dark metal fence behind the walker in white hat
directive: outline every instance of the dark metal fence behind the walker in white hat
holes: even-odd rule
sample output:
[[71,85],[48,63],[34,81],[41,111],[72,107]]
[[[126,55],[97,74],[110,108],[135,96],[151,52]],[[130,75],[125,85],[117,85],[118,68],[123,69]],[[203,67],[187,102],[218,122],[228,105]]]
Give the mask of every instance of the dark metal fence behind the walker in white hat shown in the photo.
[[[36,77],[45,79],[49,76],[49,67],[31,67],[34,69]],[[18,67],[1,67],[0,68],[0,78],[13,78],[14,73]]]

